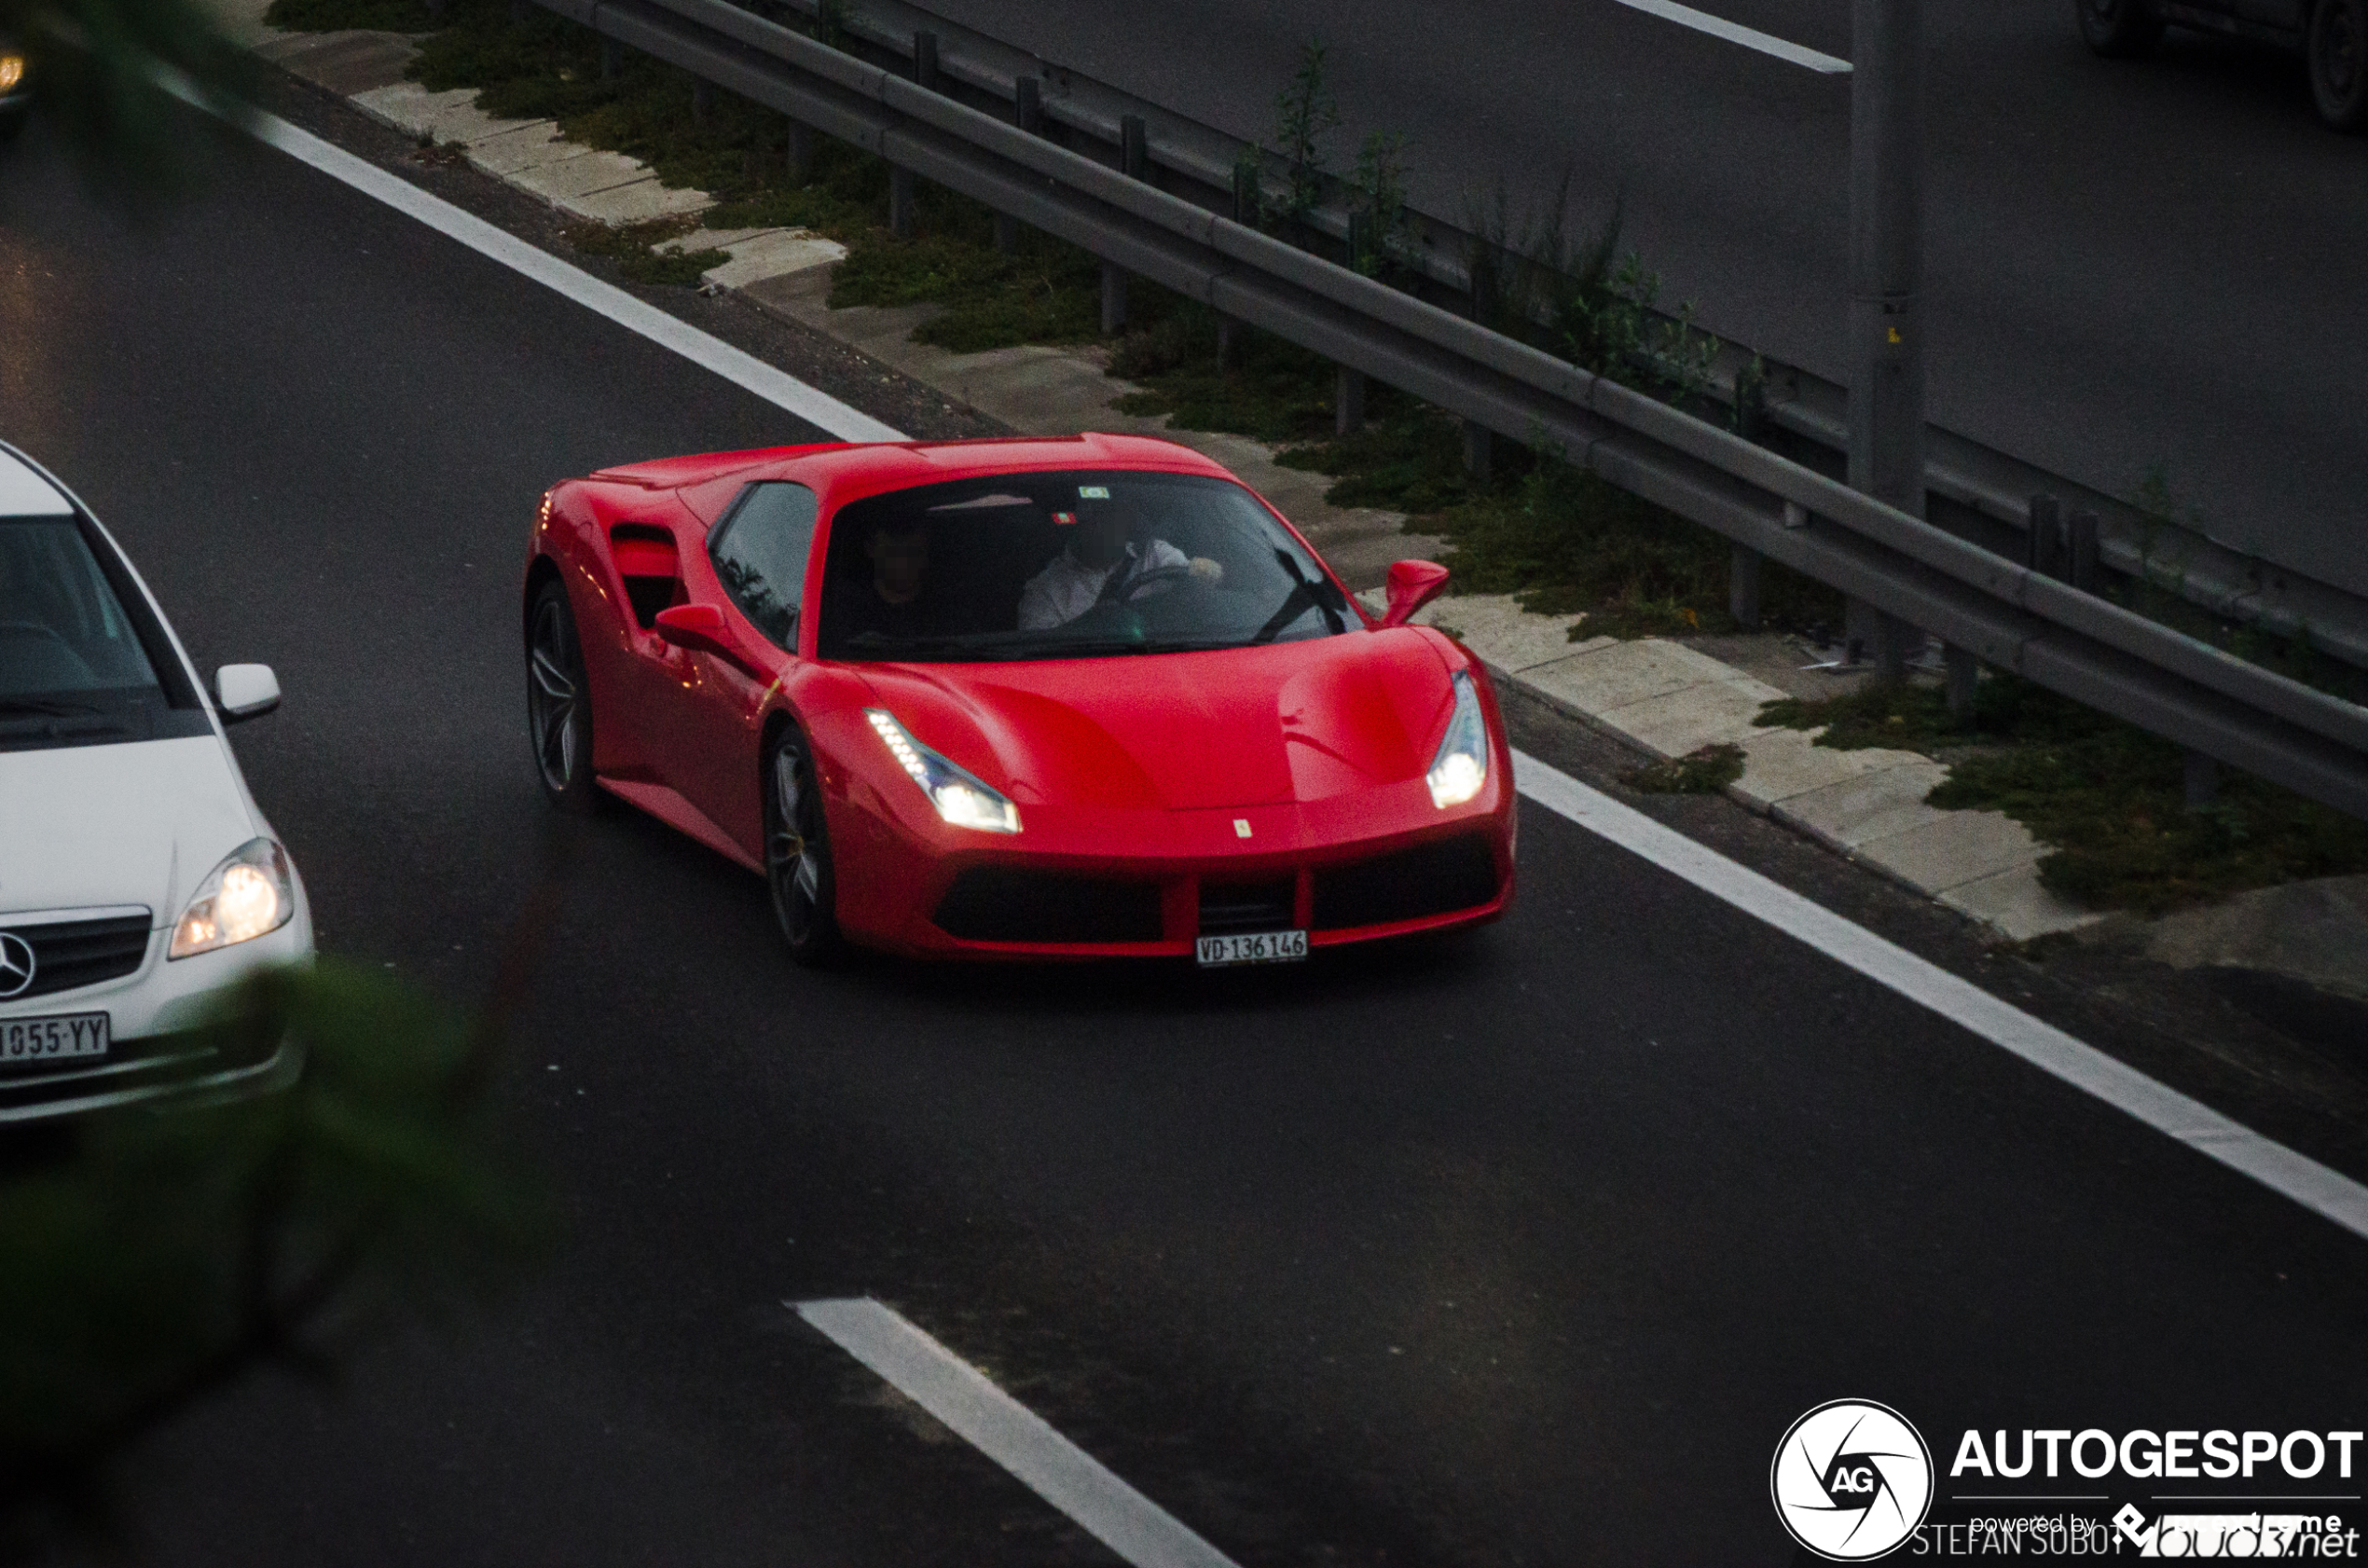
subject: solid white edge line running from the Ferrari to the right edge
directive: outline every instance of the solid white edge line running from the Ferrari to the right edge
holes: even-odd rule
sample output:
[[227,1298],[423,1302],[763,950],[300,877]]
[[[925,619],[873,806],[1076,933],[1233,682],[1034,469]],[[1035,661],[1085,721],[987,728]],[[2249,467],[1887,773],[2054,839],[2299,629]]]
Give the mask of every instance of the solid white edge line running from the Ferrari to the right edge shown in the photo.
[[1942,1018],[1973,1030],[1982,1040],[2022,1056],[2034,1068],[2063,1078],[2074,1090],[2096,1094],[2108,1106],[2136,1116],[2157,1132],[2207,1153],[2231,1170],[2250,1175],[2261,1187],[2325,1215],[2354,1236],[2368,1236],[2368,1187],[2273,1144],[2252,1127],[2212,1106],[2160,1085],[2138,1068],[2115,1061],[2093,1045],[2081,1045],[2020,1007],[2001,1002],[1980,985],[1961,981],[1906,947],[1897,947],[1866,926],[1842,919],[1823,905],[1781,888],[1759,872],[1745,869],[1712,848],[1653,822],[1639,810],[1579,784],[1568,772],[1537,758],[1513,753],[1513,782],[1546,810],[1570,817],[1591,834],[1641,855],[1660,869],[1691,881],[1712,898],[1764,919],[1826,957],[1857,969],[1911,1002],[1930,1007]]

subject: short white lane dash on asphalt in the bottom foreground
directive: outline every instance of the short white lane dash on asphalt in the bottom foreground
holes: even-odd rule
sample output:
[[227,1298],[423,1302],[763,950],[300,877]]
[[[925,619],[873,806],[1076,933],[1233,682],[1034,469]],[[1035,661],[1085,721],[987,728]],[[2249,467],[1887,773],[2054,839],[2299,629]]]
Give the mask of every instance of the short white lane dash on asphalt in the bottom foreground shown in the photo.
[[864,1296],[800,1300],[796,1312],[1134,1568],[1236,1568],[895,1310]]

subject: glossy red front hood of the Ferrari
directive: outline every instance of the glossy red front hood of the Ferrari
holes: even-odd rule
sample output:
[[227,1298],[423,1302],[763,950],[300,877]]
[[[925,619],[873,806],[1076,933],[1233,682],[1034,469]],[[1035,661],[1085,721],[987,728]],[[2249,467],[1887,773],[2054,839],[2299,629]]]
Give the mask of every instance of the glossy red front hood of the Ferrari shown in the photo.
[[1414,630],[867,675],[914,739],[1021,805],[1208,810],[1397,784],[1430,765],[1454,701]]

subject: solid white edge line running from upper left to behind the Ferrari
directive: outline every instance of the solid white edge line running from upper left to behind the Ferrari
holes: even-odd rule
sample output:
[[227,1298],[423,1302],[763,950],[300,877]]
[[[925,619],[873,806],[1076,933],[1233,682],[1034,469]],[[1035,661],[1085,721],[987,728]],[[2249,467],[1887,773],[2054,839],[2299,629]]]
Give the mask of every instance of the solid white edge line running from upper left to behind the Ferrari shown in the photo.
[[[166,81],[166,90],[199,109],[211,109],[194,88]],[[725,381],[765,398],[798,419],[822,429],[838,441],[905,441],[905,433],[881,424],[871,415],[848,407],[838,398],[815,391],[798,377],[774,369],[765,360],[725,343],[718,336],[680,322],[665,310],[649,306],[616,284],[606,284],[583,268],[568,265],[549,251],[538,251],[516,234],[493,227],[476,213],[466,213],[443,197],[429,194],[407,180],[398,180],[377,163],[367,163],[343,147],[332,147],[310,130],[289,126],[277,114],[249,111],[246,130],[256,140],[310,163],[332,180],[343,180],[365,197],[377,197],[407,218],[417,218],[438,234],[462,242],[481,256],[490,256],[511,272],[533,277],[538,284],[573,298],[587,310],[606,315],[628,332],[637,332],[661,348],[673,348],[701,369],[713,369]]]

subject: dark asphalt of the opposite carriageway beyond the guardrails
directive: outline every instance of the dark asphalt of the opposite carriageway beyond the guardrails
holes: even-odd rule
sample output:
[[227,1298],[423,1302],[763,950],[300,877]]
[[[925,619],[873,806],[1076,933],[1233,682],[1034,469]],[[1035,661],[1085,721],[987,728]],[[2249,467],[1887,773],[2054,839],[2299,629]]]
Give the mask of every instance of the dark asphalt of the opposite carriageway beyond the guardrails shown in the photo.
[[[1347,126],[1407,137],[1416,206],[1516,218],[1570,171],[1575,227],[1624,201],[1662,303],[1847,381],[1849,78],[1620,0],[928,0],[1234,135],[1321,36]],[[1695,0],[1849,57],[1849,0]],[[1928,0],[1930,417],[2129,495],[2162,464],[2226,545],[2368,595],[2368,140],[2302,66],[2174,33],[2103,62],[2072,0]]]

